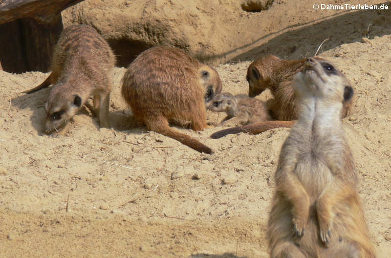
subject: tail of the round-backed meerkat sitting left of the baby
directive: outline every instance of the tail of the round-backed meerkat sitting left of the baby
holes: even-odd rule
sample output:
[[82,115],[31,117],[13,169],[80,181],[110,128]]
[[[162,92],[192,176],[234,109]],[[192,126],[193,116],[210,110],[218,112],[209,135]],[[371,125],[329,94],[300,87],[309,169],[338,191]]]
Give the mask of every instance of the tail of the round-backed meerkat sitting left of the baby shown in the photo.
[[181,142],[184,145],[189,146],[190,148],[194,149],[195,151],[205,152],[207,154],[214,153],[214,151],[211,148],[200,143],[195,138],[172,129],[169,126],[169,123],[166,118],[163,118],[163,117],[157,118],[156,117],[154,119],[148,119],[148,120],[146,119],[145,123],[147,124],[147,128],[149,130],[152,130],[152,131],[161,133],[163,135],[166,135],[170,138],[173,138],[173,139],[177,140],[178,142]]

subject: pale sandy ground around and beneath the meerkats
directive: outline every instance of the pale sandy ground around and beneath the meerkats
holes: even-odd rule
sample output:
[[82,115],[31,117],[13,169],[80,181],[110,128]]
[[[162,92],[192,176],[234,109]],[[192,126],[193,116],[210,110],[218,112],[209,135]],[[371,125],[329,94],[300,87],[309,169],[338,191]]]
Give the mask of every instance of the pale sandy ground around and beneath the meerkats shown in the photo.
[[[378,19],[375,11],[373,16]],[[353,31],[351,42],[329,45],[320,56],[337,64],[355,88],[353,113],[343,123],[370,233],[378,257],[388,258],[391,33],[388,23],[379,23],[378,33],[362,41],[368,24],[352,24],[350,18],[343,15],[330,24]],[[308,37],[303,44],[314,45],[313,54],[324,34],[315,28],[286,32],[273,45],[310,31],[317,39]],[[224,91],[247,93],[251,59],[257,52],[273,52],[263,47],[247,53],[246,62],[217,66]],[[265,227],[274,172],[289,129],[214,140],[208,136],[222,128],[178,128],[216,151],[200,154],[130,127],[130,112],[120,96],[124,71],[115,68],[113,75],[112,128],[99,129],[85,111],[59,138],[42,133],[49,89],[20,93],[48,74],[0,71],[0,257],[268,257]]]

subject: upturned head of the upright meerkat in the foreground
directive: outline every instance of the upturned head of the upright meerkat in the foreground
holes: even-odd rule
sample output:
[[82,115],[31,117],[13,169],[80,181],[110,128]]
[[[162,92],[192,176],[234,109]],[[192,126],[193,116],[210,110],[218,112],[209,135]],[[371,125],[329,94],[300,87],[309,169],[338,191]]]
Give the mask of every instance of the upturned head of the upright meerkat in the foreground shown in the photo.
[[350,100],[354,94],[345,75],[324,59],[308,58],[304,63],[303,72],[298,74],[298,80],[296,87],[306,87],[299,92],[313,96],[343,102]]

